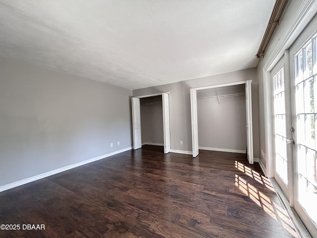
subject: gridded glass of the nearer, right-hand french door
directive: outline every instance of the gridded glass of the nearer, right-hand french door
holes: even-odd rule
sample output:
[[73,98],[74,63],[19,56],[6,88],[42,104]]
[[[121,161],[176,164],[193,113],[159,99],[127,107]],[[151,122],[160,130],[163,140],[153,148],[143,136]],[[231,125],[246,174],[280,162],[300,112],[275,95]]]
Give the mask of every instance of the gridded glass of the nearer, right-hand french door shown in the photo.
[[317,82],[316,38],[295,56],[295,106],[297,139],[298,202],[317,224]]

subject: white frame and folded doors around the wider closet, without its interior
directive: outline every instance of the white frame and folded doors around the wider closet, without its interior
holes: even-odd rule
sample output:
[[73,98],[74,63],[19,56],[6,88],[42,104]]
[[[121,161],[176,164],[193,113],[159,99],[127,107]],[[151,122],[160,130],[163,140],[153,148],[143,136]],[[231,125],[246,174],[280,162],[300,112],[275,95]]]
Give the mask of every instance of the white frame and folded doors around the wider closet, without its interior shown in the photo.
[[241,81],[228,84],[218,84],[200,88],[192,88],[190,90],[191,94],[191,118],[192,118],[192,147],[193,147],[193,157],[199,154],[199,144],[198,144],[198,112],[197,112],[197,90],[211,89],[218,87],[226,87],[232,85],[245,84],[245,95],[246,95],[246,133],[247,133],[247,155],[250,164],[253,164],[253,130],[252,130],[252,97],[251,97],[251,82]]

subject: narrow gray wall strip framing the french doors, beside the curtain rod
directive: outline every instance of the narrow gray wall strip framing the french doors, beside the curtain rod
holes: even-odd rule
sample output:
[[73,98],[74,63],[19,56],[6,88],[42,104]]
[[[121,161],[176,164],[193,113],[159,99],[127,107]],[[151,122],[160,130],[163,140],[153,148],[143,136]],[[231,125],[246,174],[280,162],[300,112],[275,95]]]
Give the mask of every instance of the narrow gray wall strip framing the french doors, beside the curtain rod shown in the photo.
[[[303,0],[291,0],[288,2],[285,11],[283,13],[282,19],[279,21],[279,25],[274,32],[272,39],[269,42],[269,45],[265,51],[264,57],[262,57],[259,61],[257,66],[257,78],[259,80],[259,145],[260,145],[260,152],[263,150],[265,152],[266,145],[265,145],[265,115],[264,115],[264,65],[268,63],[270,55],[274,51],[276,45],[278,44],[279,40],[281,39],[282,35],[284,34],[285,30],[287,29],[288,25],[291,22],[291,19],[294,17],[296,12],[299,9],[299,6],[302,4]],[[294,40],[296,36],[292,36]],[[288,46],[290,47],[290,45]],[[287,47],[286,47],[287,49]],[[284,49],[282,49],[281,53],[283,54]],[[276,61],[279,60],[278,58]],[[261,162],[266,166],[266,160],[264,160],[262,154],[260,153]]]

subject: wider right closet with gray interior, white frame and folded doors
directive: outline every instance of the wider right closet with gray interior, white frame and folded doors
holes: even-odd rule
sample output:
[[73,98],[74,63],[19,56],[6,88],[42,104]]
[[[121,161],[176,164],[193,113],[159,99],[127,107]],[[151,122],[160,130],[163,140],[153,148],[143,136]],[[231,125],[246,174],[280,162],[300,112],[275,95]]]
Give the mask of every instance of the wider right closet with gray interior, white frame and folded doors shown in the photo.
[[191,89],[193,157],[199,149],[245,153],[253,164],[251,82]]

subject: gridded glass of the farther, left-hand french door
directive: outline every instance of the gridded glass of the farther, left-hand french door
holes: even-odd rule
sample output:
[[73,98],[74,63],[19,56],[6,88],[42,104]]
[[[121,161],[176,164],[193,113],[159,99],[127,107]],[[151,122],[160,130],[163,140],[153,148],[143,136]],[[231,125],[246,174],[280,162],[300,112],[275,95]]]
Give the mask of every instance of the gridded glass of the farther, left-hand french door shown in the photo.
[[[284,68],[273,76],[275,171],[287,185]],[[304,124],[305,125],[305,124]]]

